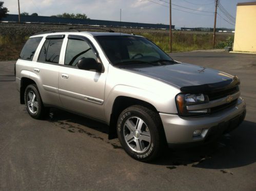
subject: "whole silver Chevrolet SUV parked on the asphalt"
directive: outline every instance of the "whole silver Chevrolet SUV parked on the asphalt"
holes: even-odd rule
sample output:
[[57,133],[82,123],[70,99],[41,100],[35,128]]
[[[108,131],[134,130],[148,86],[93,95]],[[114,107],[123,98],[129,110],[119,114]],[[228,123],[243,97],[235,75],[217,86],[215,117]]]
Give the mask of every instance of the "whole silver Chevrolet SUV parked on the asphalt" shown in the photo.
[[175,61],[133,34],[34,35],[15,68],[31,117],[56,107],[104,122],[109,138],[118,137],[141,161],[156,158],[165,145],[214,140],[246,113],[237,76]]

